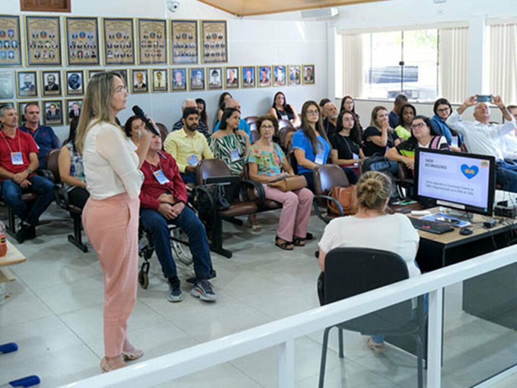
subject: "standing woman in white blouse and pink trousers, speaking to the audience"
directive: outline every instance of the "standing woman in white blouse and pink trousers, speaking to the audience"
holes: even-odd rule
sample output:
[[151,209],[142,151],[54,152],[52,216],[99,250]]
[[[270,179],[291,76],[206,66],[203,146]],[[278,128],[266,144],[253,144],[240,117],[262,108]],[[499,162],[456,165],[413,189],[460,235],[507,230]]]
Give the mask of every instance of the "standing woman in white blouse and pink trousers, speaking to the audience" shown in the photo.
[[94,75],[86,89],[75,146],[83,156],[90,197],[83,226],[104,272],[104,358],[101,371],[126,366],[144,352],[127,339],[127,321],[136,302],[140,166],[151,141],[142,130],[131,150],[115,117],[124,108],[127,87],[115,72]]

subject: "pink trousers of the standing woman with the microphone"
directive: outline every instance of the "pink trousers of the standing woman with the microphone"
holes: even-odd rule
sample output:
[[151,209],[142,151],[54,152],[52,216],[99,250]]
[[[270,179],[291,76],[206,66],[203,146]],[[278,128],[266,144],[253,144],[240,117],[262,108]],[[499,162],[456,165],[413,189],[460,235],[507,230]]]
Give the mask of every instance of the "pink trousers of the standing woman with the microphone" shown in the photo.
[[83,227],[104,271],[104,353],[122,353],[127,321],[136,303],[140,200],[124,194],[89,197]]

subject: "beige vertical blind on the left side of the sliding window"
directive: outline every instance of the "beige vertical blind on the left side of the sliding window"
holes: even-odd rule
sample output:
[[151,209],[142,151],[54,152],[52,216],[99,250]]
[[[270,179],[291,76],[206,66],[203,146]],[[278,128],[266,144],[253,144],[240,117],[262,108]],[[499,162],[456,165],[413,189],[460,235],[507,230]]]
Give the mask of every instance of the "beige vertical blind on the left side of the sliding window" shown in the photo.
[[343,35],[343,96],[362,96],[362,35]]

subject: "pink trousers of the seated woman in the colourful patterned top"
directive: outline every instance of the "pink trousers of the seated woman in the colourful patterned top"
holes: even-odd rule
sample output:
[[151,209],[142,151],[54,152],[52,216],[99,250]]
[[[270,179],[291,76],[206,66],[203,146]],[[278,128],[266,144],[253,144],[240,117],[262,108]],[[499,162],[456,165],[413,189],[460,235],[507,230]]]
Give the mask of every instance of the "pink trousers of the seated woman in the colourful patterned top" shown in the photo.
[[277,236],[285,241],[293,241],[293,236],[305,238],[311,215],[314,194],[309,189],[283,192],[264,185],[267,199],[280,202],[282,212],[278,223]]

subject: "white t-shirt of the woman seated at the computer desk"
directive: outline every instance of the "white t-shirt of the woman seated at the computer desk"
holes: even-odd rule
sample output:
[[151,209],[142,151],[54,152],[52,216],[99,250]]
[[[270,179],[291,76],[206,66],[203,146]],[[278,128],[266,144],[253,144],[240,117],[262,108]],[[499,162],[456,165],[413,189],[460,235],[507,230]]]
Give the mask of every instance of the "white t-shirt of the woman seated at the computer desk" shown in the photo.
[[354,215],[336,218],[325,227],[318,245],[328,253],[334,248],[371,248],[399,254],[407,264],[409,277],[420,275],[415,256],[420,237],[404,214],[375,218]]

